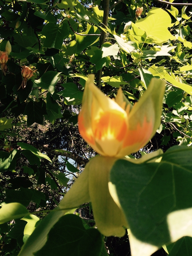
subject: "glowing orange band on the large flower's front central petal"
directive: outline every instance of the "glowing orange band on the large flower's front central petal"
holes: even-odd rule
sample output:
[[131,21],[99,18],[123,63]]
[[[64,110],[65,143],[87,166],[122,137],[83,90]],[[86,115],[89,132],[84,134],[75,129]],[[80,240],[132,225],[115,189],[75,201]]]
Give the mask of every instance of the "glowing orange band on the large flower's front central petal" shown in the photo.
[[122,141],[126,135],[127,123],[121,112],[104,112],[93,123],[93,133],[96,139],[116,139]]

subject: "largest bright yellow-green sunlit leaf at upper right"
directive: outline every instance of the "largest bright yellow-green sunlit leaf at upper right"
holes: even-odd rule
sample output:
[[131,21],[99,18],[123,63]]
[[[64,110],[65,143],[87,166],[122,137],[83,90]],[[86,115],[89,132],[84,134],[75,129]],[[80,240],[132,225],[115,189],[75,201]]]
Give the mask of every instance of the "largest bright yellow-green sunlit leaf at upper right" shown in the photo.
[[162,45],[169,39],[174,40],[174,36],[168,30],[171,27],[171,18],[167,12],[161,8],[152,7],[147,17],[136,21],[135,25],[147,33],[147,39],[151,43]]

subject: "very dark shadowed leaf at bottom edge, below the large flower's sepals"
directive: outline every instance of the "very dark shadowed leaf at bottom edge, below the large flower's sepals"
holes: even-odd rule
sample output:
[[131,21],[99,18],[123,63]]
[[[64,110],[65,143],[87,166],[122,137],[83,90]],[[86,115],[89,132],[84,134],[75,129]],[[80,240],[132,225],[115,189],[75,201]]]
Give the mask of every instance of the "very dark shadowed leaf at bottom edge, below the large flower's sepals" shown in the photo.
[[[67,234],[67,236],[66,236]],[[48,233],[48,240],[35,256],[87,255],[99,256],[102,249],[102,236],[97,229],[85,229],[82,219],[67,214],[59,219]]]

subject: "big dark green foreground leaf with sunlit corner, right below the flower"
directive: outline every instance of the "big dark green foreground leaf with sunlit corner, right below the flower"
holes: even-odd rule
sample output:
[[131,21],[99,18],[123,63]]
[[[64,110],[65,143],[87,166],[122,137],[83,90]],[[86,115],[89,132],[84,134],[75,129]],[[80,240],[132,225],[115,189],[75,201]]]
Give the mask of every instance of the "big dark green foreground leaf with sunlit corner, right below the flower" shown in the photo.
[[192,236],[192,202],[183,200],[192,196],[191,153],[190,147],[174,146],[160,162],[115,162],[110,180],[131,232],[140,241],[160,247]]

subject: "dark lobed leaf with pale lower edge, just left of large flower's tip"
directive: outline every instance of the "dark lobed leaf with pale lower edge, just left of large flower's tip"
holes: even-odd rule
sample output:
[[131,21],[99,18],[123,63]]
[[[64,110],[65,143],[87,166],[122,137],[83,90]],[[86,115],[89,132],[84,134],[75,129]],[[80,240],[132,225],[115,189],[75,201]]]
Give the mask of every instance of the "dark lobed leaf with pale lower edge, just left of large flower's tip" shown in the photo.
[[58,92],[58,95],[65,97],[67,105],[79,105],[82,103],[83,92],[80,91],[76,84],[61,84],[65,90]]

